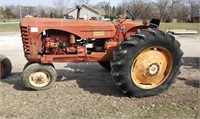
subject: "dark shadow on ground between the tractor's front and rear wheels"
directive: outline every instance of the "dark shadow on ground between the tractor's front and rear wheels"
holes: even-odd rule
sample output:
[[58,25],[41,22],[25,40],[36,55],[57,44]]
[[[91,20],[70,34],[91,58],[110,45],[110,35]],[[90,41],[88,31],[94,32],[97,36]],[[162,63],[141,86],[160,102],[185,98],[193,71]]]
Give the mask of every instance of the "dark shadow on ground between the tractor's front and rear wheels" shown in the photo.
[[84,91],[115,97],[124,95],[115,85],[111,73],[98,63],[69,63],[64,70],[57,70],[58,82],[76,80]]

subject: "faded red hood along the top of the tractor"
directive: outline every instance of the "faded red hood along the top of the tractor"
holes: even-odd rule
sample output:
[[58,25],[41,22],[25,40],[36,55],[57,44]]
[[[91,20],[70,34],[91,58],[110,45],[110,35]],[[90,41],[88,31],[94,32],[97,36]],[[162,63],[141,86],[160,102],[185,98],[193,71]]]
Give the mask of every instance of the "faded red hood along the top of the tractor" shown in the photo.
[[95,20],[68,20],[52,18],[23,18],[21,27],[28,27],[31,33],[42,33],[55,29],[75,34],[82,38],[112,38],[116,33],[113,23]]

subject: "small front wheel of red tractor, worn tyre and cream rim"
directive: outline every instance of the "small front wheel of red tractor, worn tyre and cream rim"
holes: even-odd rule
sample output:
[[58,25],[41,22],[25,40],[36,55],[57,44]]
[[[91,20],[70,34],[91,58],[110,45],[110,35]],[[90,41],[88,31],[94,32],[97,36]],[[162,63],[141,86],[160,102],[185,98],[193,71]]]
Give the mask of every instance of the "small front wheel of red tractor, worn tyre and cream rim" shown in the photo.
[[27,88],[44,90],[52,86],[57,73],[51,65],[33,63],[24,69],[22,80]]

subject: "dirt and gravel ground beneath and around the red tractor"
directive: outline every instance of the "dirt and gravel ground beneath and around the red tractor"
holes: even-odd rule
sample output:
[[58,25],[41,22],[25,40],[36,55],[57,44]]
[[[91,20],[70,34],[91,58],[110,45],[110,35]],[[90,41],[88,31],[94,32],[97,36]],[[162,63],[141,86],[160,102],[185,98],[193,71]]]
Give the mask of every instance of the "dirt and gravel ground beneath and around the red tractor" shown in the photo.
[[13,64],[12,74],[0,82],[0,119],[200,118],[200,36],[176,37],[185,53],[176,82],[160,95],[128,98],[98,63],[56,63],[52,88],[26,90],[20,34],[0,33],[0,53]]

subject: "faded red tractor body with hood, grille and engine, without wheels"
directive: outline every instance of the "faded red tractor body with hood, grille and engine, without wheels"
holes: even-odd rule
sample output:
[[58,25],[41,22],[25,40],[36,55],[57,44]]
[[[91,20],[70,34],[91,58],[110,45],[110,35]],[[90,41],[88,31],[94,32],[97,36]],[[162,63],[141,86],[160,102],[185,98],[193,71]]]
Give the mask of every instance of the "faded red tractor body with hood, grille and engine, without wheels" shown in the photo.
[[[126,20],[111,23],[95,20],[24,18],[20,22],[26,59],[41,63],[112,60],[112,52],[122,40],[134,34],[138,28],[148,28],[136,26],[137,23]],[[49,31],[51,34],[44,35],[44,31]],[[76,38],[90,41],[100,39],[104,40],[105,44],[95,46],[96,51],[88,53],[83,44],[76,43]]]

